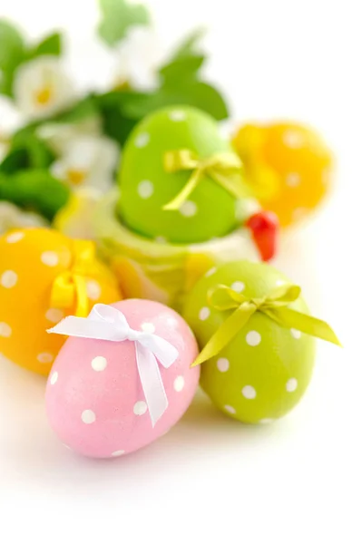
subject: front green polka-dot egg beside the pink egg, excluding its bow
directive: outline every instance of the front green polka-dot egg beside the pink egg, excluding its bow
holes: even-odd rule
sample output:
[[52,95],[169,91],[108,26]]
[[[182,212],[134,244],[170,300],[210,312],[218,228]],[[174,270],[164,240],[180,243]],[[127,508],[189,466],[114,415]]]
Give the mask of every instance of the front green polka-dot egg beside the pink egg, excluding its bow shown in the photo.
[[[183,315],[202,348],[235,311],[221,311],[210,304],[216,286],[230,287],[251,299],[268,296],[289,283],[266,264],[238,261],[222,265],[193,287]],[[300,296],[289,308],[308,314]],[[288,413],[305,393],[313,370],[314,344],[312,336],[285,328],[257,311],[216,356],[201,364],[201,387],[232,418],[267,423]]]

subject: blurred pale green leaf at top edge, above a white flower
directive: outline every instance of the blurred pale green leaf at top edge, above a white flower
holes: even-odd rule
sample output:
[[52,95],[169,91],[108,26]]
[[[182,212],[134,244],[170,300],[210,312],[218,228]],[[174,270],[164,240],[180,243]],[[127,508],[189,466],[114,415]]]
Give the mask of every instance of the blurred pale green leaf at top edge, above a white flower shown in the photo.
[[100,0],[103,20],[98,33],[108,45],[117,44],[134,24],[149,24],[150,15],[142,4],[129,4],[126,0]]

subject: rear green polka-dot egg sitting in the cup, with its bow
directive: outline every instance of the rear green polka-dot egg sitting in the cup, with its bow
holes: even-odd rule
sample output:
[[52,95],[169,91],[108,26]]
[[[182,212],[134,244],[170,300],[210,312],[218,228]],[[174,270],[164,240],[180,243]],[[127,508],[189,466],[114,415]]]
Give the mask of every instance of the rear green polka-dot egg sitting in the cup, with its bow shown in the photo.
[[147,238],[193,243],[222,237],[249,195],[241,162],[218,123],[189,106],[153,112],[130,135],[119,175],[122,222]]

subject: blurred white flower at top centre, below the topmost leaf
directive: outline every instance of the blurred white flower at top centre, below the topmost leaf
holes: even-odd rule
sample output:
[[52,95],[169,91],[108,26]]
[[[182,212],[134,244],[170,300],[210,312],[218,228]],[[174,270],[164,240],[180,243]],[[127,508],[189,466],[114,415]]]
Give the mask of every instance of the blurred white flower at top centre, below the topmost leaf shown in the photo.
[[158,84],[162,55],[156,34],[146,26],[131,26],[117,47],[116,84],[151,91]]

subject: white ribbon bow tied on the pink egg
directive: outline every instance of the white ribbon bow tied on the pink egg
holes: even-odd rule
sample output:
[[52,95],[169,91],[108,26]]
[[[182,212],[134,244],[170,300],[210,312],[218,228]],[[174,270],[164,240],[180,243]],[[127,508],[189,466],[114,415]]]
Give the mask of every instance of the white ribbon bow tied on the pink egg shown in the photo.
[[93,306],[88,317],[65,317],[47,332],[110,342],[134,342],[138,373],[154,427],[169,405],[157,361],[164,368],[170,368],[179,356],[174,345],[161,336],[133,330],[122,312],[105,304]]

